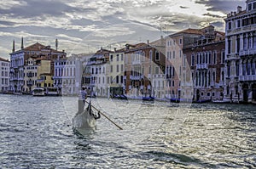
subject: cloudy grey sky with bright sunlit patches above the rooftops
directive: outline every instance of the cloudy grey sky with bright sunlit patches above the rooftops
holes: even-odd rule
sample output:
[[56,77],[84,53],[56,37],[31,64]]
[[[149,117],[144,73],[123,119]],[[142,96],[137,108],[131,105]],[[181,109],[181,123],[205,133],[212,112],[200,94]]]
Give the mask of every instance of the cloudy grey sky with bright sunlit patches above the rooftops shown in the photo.
[[214,25],[246,0],[8,0],[0,3],[0,57],[39,42],[71,54],[147,42],[188,28]]

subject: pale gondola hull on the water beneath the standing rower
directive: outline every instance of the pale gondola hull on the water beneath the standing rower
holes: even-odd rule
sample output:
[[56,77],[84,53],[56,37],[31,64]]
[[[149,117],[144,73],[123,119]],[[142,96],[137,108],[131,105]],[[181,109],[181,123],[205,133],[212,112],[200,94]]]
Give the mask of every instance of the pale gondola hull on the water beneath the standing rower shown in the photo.
[[78,112],[73,117],[73,128],[94,128],[96,127],[96,119],[99,119],[100,117],[100,113],[96,115],[96,113],[92,110],[91,103],[89,103],[86,109],[84,109],[82,112]]

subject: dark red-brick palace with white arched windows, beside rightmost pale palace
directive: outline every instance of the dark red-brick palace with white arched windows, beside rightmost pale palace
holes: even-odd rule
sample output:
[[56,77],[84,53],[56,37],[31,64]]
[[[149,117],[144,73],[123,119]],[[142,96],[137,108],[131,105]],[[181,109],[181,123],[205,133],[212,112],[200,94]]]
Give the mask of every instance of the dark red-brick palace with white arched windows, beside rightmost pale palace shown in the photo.
[[[183,92],[194,101],[224,99],[224,32],[215,31],[212,25],[200,31],[201,37],[183,48],[182,65],[186,72],[183,72],[182,87],[186,82],[192,87]],[[184,93],[182,95],[188,97]]]

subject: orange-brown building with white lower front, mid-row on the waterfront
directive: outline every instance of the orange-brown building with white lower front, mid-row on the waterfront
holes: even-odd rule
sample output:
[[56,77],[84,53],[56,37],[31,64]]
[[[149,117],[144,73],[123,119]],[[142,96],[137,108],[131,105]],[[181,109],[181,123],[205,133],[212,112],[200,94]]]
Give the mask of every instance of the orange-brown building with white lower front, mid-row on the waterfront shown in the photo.
[[[132,97],[155,96],[162,98],[160,90],[165,74],[166,57],[160,41],[126,44],[125,48],[125,93]],[[154,79],[154,81],[153,81]],[[155,93],[155,90],[157,92]]]

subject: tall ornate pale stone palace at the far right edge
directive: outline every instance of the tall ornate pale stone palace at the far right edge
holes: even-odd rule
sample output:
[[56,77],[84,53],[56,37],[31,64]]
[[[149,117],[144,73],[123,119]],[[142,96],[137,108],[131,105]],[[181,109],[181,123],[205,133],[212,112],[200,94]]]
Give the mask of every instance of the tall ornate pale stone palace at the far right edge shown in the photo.
[[225,19],[224,97],[230,101],[256,100],[256,0],[246,3]]

